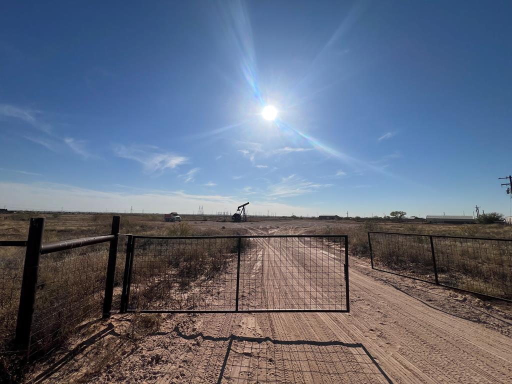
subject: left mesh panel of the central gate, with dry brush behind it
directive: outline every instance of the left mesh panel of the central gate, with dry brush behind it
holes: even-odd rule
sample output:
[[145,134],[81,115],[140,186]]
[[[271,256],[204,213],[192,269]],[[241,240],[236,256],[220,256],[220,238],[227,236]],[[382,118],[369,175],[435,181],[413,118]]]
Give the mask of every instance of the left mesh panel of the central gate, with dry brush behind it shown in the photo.
[[234,310],[238,239],[134,239],[128,309]]

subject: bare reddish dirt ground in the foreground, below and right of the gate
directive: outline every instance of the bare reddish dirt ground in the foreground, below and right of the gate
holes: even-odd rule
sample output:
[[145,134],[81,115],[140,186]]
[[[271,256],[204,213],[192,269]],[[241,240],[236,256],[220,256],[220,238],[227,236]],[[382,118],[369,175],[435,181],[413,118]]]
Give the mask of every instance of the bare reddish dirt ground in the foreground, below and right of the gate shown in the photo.
[[[300,234],[311,224],[242,225]],[[512,382],[512,305],[374,271],[367,259],[350,257],[349,271],[350,313],[117,314],[84,326],[87,339],[30,382]]]

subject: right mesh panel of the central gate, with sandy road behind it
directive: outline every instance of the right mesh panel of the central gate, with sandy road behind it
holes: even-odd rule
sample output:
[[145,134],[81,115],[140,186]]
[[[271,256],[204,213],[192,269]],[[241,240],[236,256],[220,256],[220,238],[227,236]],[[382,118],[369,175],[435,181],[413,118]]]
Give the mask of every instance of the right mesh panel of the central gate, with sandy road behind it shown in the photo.
[[347,309],[344,237],[244,240],[240,310]]

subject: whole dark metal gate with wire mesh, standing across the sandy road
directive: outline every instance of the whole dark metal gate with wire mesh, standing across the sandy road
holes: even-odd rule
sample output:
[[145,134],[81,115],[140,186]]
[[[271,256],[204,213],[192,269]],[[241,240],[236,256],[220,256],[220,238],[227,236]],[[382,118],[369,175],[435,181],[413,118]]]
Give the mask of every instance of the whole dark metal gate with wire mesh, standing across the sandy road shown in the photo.
[[349,312],[348,237],[129,236],[121,312]]

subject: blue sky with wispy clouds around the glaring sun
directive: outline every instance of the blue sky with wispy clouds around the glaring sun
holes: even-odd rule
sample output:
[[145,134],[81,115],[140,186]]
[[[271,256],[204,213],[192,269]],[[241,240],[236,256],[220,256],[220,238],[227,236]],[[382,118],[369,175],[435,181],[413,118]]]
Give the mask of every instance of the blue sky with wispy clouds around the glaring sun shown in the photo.
[[511,11],[4,4],[0,204],[508,215]]

